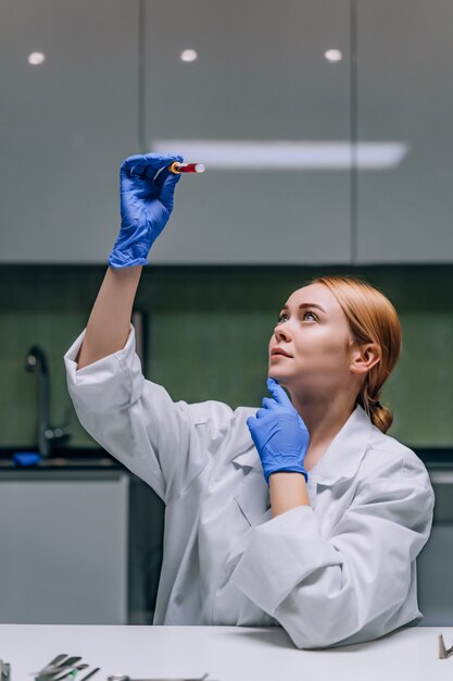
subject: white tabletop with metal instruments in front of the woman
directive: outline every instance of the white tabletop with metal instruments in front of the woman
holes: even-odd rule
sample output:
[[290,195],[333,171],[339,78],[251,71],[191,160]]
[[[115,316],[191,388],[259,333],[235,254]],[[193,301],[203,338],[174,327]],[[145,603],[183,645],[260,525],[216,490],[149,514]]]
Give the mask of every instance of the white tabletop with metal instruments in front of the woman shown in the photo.
[[341,648],[300,651],[279,628],[95,627],[0,624],[0,658],[11,681],[32,681],[59,653],[133,679],[201,678],[217,681],[437,681],[453,679],[453,657],[439,659],[453,627],[416,627]]

